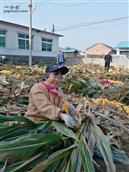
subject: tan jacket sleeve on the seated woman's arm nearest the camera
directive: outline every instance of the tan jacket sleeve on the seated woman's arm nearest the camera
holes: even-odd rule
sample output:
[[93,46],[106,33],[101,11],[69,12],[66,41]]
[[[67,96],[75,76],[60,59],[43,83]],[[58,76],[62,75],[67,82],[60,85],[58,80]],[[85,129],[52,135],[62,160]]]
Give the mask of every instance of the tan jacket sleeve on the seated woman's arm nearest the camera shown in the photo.
[[55,106],[40,89],[32,89],[30,96],[32,98],[34,106],[39,111],[43,118],[51,120],[59,120],[59,114],[61,109]]

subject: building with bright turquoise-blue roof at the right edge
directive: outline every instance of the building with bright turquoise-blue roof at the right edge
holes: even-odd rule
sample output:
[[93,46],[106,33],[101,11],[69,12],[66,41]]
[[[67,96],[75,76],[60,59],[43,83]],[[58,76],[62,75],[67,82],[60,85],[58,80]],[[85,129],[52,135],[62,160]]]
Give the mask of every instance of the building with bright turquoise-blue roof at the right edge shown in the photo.
[[129,41],[121,41],[116,45],[117,55],[129,56]]

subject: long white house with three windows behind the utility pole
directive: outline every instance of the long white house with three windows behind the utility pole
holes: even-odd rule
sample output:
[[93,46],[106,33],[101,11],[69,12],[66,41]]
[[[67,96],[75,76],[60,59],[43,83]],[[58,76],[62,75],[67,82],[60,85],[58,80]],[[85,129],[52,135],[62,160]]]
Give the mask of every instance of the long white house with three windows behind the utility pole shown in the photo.
[[[62,35],[32,28],[32,56],[56,57]],[[29,28],[0,20],[0,56],[28,57]]]

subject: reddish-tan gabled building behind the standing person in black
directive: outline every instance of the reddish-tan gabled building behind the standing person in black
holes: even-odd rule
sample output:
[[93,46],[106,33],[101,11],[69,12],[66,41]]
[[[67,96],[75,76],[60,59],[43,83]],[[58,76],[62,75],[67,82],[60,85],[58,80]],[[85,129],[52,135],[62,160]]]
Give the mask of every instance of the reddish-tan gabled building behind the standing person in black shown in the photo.
[[104,56],[105,54],[107,54],[108,52],[113,52],[115,53],[116,50],[106,44],[103,43],[97,43],[92,45],[91,47],[87,48],[85,50],[85,56],[90,57],[90,56]]

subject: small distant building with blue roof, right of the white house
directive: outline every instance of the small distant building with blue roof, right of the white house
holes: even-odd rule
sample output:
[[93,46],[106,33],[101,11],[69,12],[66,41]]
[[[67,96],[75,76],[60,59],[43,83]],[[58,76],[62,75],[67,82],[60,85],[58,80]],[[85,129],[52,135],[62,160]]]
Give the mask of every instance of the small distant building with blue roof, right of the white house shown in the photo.
[[80,50],[77,49],[63,49],[61,52],[65,57],[77,57],[80,55]]

